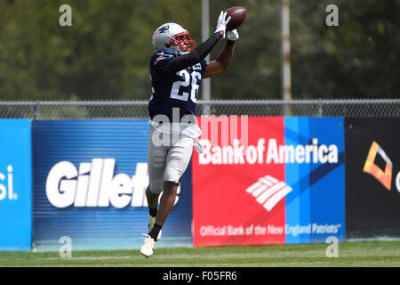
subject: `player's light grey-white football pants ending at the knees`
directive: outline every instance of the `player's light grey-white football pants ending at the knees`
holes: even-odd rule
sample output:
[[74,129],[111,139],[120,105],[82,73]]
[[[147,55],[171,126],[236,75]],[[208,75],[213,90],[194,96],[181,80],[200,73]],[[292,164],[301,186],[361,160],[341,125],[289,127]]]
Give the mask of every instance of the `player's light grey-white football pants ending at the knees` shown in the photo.
[[[169,143],[159,145],[154,140],[166,135]],[[163,191],[164,181],[180,183],[180,177],[188,167],[192,157],[193,138],[183,134],[161,134],[151,126],[148,140],[148,180],[150,191],[159,194]]]

